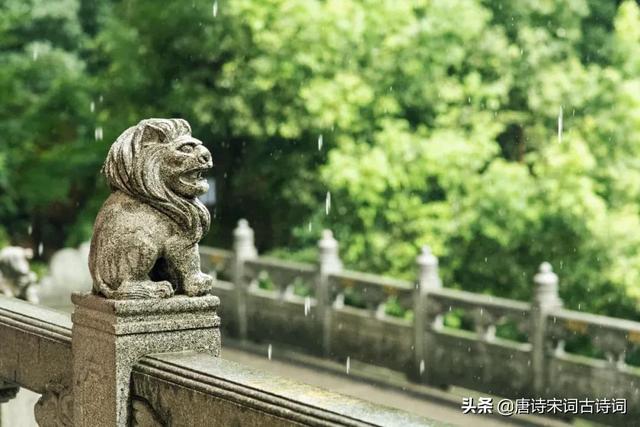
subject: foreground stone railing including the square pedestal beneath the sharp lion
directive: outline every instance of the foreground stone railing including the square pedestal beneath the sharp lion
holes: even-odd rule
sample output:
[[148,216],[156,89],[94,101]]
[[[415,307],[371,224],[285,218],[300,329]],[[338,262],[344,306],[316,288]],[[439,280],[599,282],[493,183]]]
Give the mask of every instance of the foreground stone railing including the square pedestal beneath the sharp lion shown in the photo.
[[41,427],[436,425],[216,357],[216,297],[74,303],[72,321],[0,296],[0,403],[41,394]]

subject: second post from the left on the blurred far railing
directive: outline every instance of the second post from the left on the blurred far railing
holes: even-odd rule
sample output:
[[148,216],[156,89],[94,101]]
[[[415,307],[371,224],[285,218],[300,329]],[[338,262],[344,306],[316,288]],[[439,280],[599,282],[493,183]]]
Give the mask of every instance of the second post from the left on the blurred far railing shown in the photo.
[[331,230],[323,230],[318,242],[318,272],[316,277],[316,299],[319,320],[322,325],[322,352],[331,355],[331,317],[333,298],[329,286],[329,275],[342,271],[342,261],[338,254],[338,241]]

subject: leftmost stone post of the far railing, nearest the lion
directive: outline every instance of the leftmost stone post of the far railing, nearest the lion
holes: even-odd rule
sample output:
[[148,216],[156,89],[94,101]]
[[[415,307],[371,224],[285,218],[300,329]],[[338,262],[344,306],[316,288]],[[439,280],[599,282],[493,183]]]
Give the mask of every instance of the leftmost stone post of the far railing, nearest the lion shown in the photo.
[[247,339],[247,283],[244,278],[244,262],[258,257],[254,244],[253,230],[246,219],[238,221],[233,230],[233,284],[236,297],[236,325],[238,337]]

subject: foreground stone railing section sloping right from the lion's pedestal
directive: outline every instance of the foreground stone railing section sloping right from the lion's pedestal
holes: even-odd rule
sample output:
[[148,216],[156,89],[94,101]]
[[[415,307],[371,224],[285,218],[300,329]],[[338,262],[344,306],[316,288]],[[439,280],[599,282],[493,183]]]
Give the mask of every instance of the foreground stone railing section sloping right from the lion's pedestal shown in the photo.
[[[322,390],[194,352],[138,363],[133,394],[153,426],[428,426],[399,410]],[[198,408],[194,410],[193,408]],[[242,408],[240,410],[240,408]]]

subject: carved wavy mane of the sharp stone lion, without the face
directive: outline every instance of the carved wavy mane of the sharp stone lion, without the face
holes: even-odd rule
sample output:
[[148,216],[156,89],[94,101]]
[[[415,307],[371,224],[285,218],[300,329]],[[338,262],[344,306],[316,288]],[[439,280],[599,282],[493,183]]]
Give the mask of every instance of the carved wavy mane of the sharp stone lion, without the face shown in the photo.
[[102,172],[112,191],[122,191],[164,213],[185,230],[209,230],[209,211],[197,197],[176,194],[163,181],[163,151],[176,138],[191,136],[182,119],[147,119],[124,131],[113,143]]

